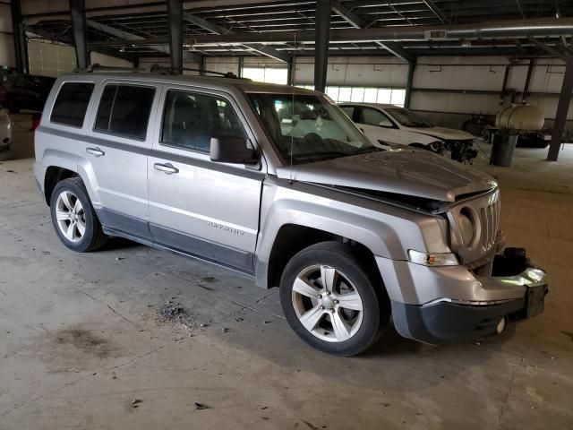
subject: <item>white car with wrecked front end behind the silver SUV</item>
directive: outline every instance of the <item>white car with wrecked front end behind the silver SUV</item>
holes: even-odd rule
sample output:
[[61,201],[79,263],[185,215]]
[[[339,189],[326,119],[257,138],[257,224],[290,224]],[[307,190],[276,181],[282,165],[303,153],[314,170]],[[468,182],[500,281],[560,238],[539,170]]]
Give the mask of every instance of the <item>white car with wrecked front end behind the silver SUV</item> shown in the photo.
[[374,144],[409,145],[469,163],[477,155],[472,134],[436,127],[404,107],[353,102],[339,106]]

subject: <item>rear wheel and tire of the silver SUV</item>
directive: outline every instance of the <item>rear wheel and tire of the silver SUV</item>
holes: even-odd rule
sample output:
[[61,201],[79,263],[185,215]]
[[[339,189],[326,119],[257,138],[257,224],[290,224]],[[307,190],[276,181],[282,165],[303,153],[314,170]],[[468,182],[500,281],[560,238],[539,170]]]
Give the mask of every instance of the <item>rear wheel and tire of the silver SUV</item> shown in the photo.
[[50,197],[50,214],[56,235],[75,252],[95,251],[107,241],[79,177],[64,179],[56,185]]

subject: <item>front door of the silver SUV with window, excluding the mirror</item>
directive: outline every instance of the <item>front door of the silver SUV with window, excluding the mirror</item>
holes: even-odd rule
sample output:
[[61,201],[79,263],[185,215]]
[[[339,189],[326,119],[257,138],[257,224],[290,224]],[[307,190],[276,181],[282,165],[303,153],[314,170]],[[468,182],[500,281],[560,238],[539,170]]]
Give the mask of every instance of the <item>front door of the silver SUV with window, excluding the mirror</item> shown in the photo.
[[252,272],[264,162],[210,161],[210,138],[254,142],[224,94],[169,87],[148,159],[150,230],[159,245]]

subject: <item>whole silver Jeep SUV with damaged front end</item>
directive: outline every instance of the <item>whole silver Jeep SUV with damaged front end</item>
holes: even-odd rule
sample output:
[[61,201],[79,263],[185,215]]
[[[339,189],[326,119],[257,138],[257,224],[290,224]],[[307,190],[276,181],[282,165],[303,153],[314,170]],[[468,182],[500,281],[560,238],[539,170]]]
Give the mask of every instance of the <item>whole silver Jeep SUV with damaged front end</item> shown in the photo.
[[543,311],[545,273],[503,254],[490,176],[381,150],[321,93],[229,78],[73,73],[52,89],[34,172],[56,234],[107,236],[280,288],[293,330],[351,356],[392,321],[471,341]]

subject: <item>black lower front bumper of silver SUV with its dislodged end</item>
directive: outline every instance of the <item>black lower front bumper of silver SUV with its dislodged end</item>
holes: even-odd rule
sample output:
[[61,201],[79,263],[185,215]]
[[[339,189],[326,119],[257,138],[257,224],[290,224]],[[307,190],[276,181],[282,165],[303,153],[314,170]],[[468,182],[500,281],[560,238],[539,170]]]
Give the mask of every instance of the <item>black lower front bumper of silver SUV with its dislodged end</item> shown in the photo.
[[480,340],[503,331],[507,322],[543,312],[549,286],[545,272],[526,258],[525,250],[508,248],[493,261],[493,277],[525,288],[522,298],[495,303],[461,303],[444,298],[426,305],[392,301],[392,319],[400,335],[424,343],[443,344]]

